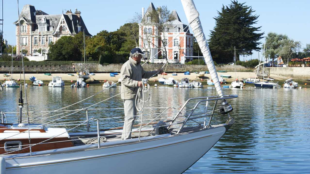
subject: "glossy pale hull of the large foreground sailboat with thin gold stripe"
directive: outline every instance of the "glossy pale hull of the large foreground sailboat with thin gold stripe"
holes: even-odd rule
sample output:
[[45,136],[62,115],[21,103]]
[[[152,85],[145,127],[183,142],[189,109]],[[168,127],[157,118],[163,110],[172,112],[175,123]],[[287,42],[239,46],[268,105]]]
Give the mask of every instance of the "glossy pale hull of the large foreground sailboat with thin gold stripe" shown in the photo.
[[[220,126],[176,136],[160,135],[163,138],[108,148],[6,159],[6,174],[182,173],[225,132],[226,128]],[[167,154],[173,157],[169,162],[164,160]]]

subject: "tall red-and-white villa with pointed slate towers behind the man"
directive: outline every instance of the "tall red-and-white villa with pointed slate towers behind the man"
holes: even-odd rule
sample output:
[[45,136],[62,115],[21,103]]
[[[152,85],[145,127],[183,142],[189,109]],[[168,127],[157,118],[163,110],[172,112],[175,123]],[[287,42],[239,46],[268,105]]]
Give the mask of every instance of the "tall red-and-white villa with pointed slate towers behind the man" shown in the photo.
[[[151,19],[150,14],[153,11],[156,9],[152,2],[145,13],[142,8],[139,48],[145,53],[144,59],[151,58],[151,63],[165,63],[165,59],[158,58],[167,57],[169,63],[184,63],[186,56],[193,56],[193,34],[189,32],[187,25],[181,22],[175,10],[171,12],[174,20],[166,22],[163,32],[159,33]],[[162,50],[164,46],[166,52]],[[158,51],[160,52],[157,54]]]

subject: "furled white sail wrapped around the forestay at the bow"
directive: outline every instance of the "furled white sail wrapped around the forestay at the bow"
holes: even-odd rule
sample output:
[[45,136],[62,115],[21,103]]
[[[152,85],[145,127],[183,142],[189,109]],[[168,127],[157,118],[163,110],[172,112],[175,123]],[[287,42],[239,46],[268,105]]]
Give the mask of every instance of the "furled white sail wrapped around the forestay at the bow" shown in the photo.
[[216,91],[220,97],[223,96],[221,84],[219,82],[219,77],[217,76],[215,65],[212,60],[212,56],[210,53],[209,45],[206,41],[205,34],[203,33],[201,22],[199,19],[198,11],[195,7],[193,0],[181,0],[184,12],[190,26],[193,29],[194,36],[198,42],[200,50],[202,52],[203,57],[205,58],[205,62],[207,64],[208,70],[210,72],[211,78],[213,79],[213,83],[215,85]]

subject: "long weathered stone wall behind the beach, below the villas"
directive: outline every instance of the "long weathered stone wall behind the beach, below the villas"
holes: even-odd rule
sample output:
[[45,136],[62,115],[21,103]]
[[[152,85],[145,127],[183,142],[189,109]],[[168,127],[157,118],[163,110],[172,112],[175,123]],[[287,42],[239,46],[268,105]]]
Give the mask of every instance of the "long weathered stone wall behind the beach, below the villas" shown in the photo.
[[[73,63],[72,65],[26,65],[24,67],[25,72],[31,73],[31,72],[74,72],[73,71],[73,65],[75,67],[75,71],[78,71],[80,68],[84,67],[84,64],[81,63]],[[101,65],[97,63],[88,63],[86,66],[89,69],[90,72],[120,72],[123,64],[108,64],[108,65]],[[152,71],[154,69],[161,68],[163,64],[144,64],[143,68],[146,71]],[[20,72],[19,66],[13,66],[14,72]],[[166,69],[166,72],[197,72],[197,71],[208,71],[208,68],[206,65],[183,65],[183,64],[168,64],[165,65],[164,70]],[[234,72],[235,66],[230,65],[222,65],[222,66],[216,66],[217,70],[225,70],[228,72]],[[241,72],[252,72],[253,68],[246,68],[242,67],[240,65],[236,66],[237,71]],[[11,71],[11,66],[7,65],[1,65],[0,64],[0,72],[2,73],[8,73]]]

